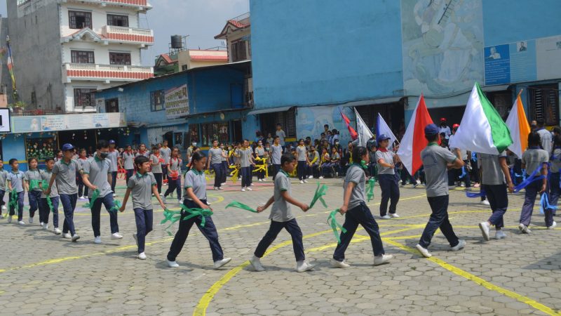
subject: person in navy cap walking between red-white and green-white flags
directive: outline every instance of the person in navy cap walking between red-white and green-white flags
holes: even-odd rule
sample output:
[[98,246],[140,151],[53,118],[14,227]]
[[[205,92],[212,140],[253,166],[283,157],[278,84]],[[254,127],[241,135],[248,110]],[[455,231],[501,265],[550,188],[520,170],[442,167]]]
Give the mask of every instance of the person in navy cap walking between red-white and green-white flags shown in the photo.
[[428,140],[427,147],[421,151],[425,178],[426,178],[426,197],[431,206],[432,214],[421,235],[417,250],[426,258],[432,255],[428,253],[428,246],[431,244],[434,232],[440,228],[442,234],[450,243],[452,251],[459,251],[466,246],[464,240],[458,239],[452,224],[448,220],[448,173],[447,169],[459,169],[464,166],[464,162],[452,154],[449,150],[438,146],[440,129],[435,124],[428,124],[425,127],[425,138]]

